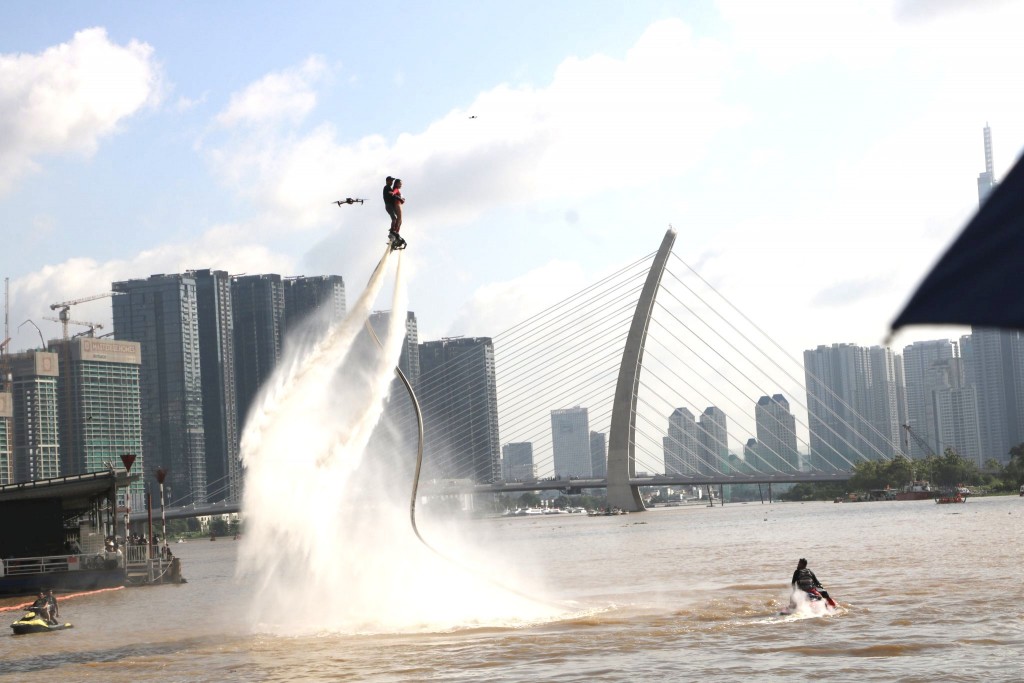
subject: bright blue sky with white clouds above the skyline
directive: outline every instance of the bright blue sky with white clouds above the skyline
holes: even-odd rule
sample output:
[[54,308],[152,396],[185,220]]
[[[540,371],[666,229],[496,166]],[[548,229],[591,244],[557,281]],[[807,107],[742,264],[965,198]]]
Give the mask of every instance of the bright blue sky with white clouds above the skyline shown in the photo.
[[496,335],[672,224],[792,353],[871,345],[977,208],[985,124],[997,177],[1024,147],[1019,2],[297,4],[5,5],[11,349],[157,272],[354,300],[388,174],[421,339]]

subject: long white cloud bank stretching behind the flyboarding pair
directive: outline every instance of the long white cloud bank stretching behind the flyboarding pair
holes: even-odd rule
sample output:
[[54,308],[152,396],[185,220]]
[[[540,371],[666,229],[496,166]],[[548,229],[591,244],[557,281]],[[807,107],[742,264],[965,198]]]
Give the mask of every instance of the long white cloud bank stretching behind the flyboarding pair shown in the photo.
[[[262,113],[298,123],[315,100],[317,65],[264,77],[218,121]],[[387,174],[407,179],[419,225],[442,229],[496,206],[588,197],[692,169],[717,131],[740,120],[721,100],[727,68],[721,46],[669,19],[624,59],[567,59],[548,87],[496,86],[422,132],[344,142],[326,123],[301,134],[261,130],[226,140],[209,159],[285,229],[323,226],[322,207],[338,193],[375,199]]]

